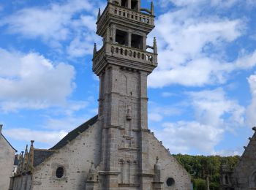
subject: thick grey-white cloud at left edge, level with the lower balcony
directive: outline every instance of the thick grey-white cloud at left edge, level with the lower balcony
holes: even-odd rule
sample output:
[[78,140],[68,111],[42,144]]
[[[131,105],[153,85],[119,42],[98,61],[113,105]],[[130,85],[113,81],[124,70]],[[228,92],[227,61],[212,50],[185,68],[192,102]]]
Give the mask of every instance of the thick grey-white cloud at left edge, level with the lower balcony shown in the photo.
[[41,109],[67,104],[75,84],[75,69],[55,64],[38,53],[18,53],[0,49],[0,108]]

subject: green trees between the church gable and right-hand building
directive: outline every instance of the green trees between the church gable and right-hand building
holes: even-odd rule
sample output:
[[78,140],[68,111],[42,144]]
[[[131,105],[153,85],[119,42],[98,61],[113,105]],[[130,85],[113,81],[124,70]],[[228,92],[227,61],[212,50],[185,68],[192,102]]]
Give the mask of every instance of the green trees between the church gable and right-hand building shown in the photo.
[[192,176],[195,190],[206,189],[206,178],[210,181],[210,189],[219,189],[219,170],[222,164],[235,167],[239,156],[189,156],[173,155]]

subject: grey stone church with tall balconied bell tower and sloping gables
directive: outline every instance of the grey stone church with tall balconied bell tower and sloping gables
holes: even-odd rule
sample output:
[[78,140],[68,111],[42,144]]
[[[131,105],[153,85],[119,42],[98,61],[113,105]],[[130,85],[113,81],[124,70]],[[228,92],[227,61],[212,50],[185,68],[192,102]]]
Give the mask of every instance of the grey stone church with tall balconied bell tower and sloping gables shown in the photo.
[[97,18],[103,45],[94,45],[98,115],[53,148],[20,153],[10,190],[189,190],[189,173],[148,129],[147,77],[157,67],[154,4],[108,0]]

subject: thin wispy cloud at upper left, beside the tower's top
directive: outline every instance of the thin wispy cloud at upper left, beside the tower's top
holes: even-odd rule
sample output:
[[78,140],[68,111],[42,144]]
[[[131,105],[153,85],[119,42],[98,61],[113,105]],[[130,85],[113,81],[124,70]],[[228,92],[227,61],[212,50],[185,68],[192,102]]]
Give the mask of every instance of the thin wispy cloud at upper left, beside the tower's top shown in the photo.
[[[96,12],[99,1],[72,0],[52,3],[47,7],[29,7],[0,20],[12,34],[25,38],[39,38],[58,52],[66,51],[73,57],[92,53]],[[86,32],[85,32],[86,31]]]

